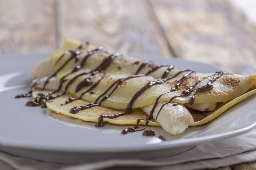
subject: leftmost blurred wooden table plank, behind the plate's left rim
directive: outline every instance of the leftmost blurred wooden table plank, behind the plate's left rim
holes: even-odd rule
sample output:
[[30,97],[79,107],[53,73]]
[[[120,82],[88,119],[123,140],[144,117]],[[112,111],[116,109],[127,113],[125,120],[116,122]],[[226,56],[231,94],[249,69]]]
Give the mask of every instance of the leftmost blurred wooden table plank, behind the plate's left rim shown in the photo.
[[53,49],[53,0],[0,0],[0,54]]

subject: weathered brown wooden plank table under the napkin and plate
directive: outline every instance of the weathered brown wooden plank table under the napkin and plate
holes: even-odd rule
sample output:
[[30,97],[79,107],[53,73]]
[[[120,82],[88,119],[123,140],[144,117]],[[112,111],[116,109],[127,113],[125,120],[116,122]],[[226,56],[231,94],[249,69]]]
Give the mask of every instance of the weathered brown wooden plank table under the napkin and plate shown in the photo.
[[0,0],[0,54],[49,53],[73,38],[253,74],[255,28],[227,0]]

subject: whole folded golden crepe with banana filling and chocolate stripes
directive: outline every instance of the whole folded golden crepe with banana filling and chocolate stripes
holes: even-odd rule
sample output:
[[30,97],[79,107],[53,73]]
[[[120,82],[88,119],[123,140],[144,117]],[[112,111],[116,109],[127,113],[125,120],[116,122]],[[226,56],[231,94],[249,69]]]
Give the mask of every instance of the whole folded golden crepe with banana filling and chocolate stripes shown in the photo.
[[212,121],[256,93],[256,75],[180,70],[75,40],[64,42],[32,76],[34,102],[46,94],[50,111],[98,127],[142,124],[174,135]]

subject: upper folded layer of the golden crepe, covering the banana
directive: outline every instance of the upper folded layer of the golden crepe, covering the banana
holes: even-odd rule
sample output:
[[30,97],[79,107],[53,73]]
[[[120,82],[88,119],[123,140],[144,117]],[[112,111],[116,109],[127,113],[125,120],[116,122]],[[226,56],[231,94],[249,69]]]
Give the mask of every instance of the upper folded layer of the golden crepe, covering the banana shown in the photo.
[[[78,47],[81,42],[77,41],[66,41],[64,45],[56,51],[54,54],[51,55],[52,61],[55,63],[55,70],[61,68],[61,66],[70,59],[70,54],[64,55],[61,59],[60,56],[67,50],[73,50],[74,46]],[[85,49],[95,49],[94,46],[88,45]],[[87,54],[79,56],[79,61],[82,61]],[[73,77],[84,73],[89,72],[95,68],[97,68],[100,63],[104,62],[107,57],[111,55],[110,52],[99,53],[95,55],[91,55],[84,66],[73,74],[68,75],[65,79],[72,79]],[[58,61],[58,62],[57,62]],[[145,62],[140,59],[135,59],[132,57],[126,56],[119,56],[113,59],[112,63],[104,70],[105,78],[99,83],[99,85],[94,88],[93,91],[96,91],[96,94],[91,95],[90,93],[84,94],[82,99],[94,102],[97,97],[99,97],[113,82],[117,79],[121,79],[124,77],[128,77],[134,75],[135,72],[138,70],[140,65]],[[135,64],[134,64],[135,63]],[[68,62],[68,64],[61,69],[56,75],[57,79],[60,80],[65,75],[69,74],[73,68],[78,65],[79,63],[75,62],[75,59],[72,59]],[[141,71],[140,74],[146,74],[152,68],[154,68],[157,64],[152,63],[152,65],[146,65]],[[120,69],[121,68],[121,69]],[[139,91],[143,86],[145,86],[148,82],[154,81],[162,76],[162,74],[166,71],[166,67],[161,67],[157,69],[157,71],[152,72],[148,76],[143,77],[136,77],[132,79],[125,80],[119,88],[117,88],[114,93],[108,97],[104,102],[101,103],[102,106],[116,108],[116,109],[125,109],[127,104],[130,102],[132,96]],[[175,74],[180,72],[180,69],[174,68],[172,71],[169,72],[167,77],[172,77]],[[151,88],[148,88],[142,95],[138,97],[138,99],[134,102],[133,108],[140,108],[146,105],[151,105],[155,102],[156,98],[161,94],[164,94],[166,91],[172,89],[177,81],[181,79],[187,72],[183,72],[178,76],[170,79],[169,81],[155,85]],[[168,93],[163,95],[159,102],[168,102],[173,96],[180,95],[182,91],[186,88],[194,85],[198,82],[199,79],[202,77],[207,77],[212,74],[200,74],[200,73],[192,73],[189,75],[184,82],[180,85],[180,87],[173,91],[172,93]],[[79,96],[82,92],[86,91],[90,87],[84,87],[81,91],[76,92],[77,85],[83,81],[84,79],[88,78],[90,74],[86,74],[83,76],[78,77],[72,85],[69,86],[67,91],[70,94],[75,94]],[[91,82],[97,82],[99,79],[102,78],[102,73],[96,74],[91,79]],[[195,90],[206,85],[213,76],[209,76],[196,86]],[[214,103],[214,102],[227,102],[229,100],[235,99],[238,96],[244,94],[248,89],[250,89],[255,84],[256,76],[244,76],[244,75],[237,75],[237,74],[226,74],[221,76],[215,82],[213,82],[213,89],[210,91],[206,91],[203,93],[198,93],[195,95],[195,103]],[[64,86],[67,85],[68,82],[64,83]],[[193,93],[192,93],[193,94]],[[179,97],[173,99],[173,102],[177,102],[180,104],[188,103],[191,95],[185,97]]]

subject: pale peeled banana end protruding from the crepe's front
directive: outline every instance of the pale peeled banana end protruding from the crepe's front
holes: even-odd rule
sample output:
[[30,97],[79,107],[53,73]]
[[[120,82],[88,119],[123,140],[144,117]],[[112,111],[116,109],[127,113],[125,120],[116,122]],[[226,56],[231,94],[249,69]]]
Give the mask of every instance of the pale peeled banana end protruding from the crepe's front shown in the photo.
[[[183,105],[176,103],[169,103],[165,105],[157,116],[157,113],[164,103],[165,102],[159,102],[153,113],[153,118],[156,119],[157,117],[157,122],[164,130],[173,135],[177,135],[194,123],[191,113],[189,113]],[[140,109],[149,114],[152,107],[153,105],[148,105]]]

